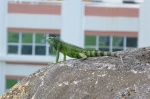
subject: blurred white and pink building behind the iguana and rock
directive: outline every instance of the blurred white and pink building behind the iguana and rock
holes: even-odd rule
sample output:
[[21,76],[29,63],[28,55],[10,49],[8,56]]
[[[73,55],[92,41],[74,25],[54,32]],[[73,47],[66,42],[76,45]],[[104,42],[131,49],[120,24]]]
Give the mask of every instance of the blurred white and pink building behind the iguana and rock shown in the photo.
[[103,51],[150,46],[150,0],[0,0],[0,95],[55,61],[46,38]]

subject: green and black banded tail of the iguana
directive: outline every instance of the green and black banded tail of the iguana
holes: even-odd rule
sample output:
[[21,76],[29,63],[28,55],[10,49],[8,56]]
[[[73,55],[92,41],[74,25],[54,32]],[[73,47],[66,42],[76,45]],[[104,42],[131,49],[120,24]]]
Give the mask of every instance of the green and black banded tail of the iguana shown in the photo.
[[117,56],[116,52],[106,52],[106,51],[100,51],[100,50],[87,50],[85,52],[85,55],[88,57],[95,57],[95,56]]

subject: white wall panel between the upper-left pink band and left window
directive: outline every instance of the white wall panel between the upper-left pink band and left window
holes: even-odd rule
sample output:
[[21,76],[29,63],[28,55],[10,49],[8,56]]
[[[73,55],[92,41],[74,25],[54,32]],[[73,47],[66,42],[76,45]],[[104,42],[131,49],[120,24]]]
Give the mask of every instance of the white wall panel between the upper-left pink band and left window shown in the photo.
[[9,13],[8,27],[33,29],[60,29],[61,18],[59,15]]

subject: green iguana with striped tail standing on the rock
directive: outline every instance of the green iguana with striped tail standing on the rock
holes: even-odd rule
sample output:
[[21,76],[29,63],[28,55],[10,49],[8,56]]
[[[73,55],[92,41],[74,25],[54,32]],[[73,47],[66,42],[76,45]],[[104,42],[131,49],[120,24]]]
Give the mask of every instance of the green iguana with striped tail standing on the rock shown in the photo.
[[63,61],[66,60],[66,55],[78,59],[86,59],[87,57],[96,57],[96,56],[117,56],[116,52],[86,50],[78,46],[68,44],[54,37],[48,38],[47,42],[50,44],[51,48],[54,48],[56,50],[56,63],[58,62],[59,59],[59,52],[61,52],[64,55]]

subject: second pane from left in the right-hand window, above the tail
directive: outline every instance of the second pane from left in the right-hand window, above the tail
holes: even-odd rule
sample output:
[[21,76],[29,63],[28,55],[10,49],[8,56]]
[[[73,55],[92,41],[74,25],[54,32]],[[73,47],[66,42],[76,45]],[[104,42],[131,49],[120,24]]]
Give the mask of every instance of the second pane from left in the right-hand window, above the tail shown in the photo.
[[109,46],[110,45],[110,38],[107,36],[101,36],[99,37],[99,47]]

